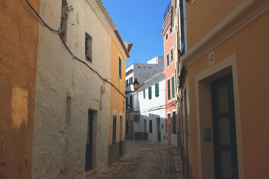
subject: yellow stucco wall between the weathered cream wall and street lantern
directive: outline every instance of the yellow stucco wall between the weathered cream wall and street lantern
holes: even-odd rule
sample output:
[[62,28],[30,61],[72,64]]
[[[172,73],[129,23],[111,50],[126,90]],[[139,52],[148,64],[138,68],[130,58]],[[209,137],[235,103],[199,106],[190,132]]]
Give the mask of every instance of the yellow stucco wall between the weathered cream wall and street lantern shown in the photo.
[[[119,56],[121,57],[121,78],[119,78]],[[117,44],[111,37],[111,83],[113,83],[123,94],[125,94],[125,57],[126,55],[121,53]],[[125,140],[125,97],[122,96],[114,87],[111,87],[111,97],[110,97],[110,117],[109,117],[109,138],[108,145],[112,144],[112,120],[113,120],[113,110],[117,111],[117,135],[116,142],[119,142],[119,120],[120,113],[123,114],[122,117],[122,140]]]

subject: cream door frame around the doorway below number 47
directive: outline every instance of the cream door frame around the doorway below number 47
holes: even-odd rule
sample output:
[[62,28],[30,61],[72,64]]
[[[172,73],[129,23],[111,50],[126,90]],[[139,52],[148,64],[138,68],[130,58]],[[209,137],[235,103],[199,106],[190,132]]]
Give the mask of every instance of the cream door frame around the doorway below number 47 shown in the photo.
[[[239,173],[239,178],[245,178],[243,140],[242,140],[241,115],[240,115],[238,67],[237,67],[236,53],[232,54],[226,59],[219,61],[218,63],[215,63],[214,65],[211,65],[206,70],[195,75],[196,114],[197,114],[196,122],[197,122],[197,134],[198,136],[200,136],[197,138],[197,142],[198,142],[197,147],[198,147],[199,176],[201,176],[201,178],[203,178],[204,175],[206,175],[206,172],[208,171],[202,170],[202,162],[204,159],[202,160],[203,156],[201,154],[202,153],[201,150],[204,148],[203,147],[204,142],[203,142],[203,124],[200,123],[200,118],[204,119],[205,117],[208,117],[208,116],[205,116],[205,111],[207,111],[207,113],[212,114],[211,106],[207,107],[206,105],[203,105],[204,103],[208,103],[208,101],[209,101],[209,104],[211,104],[211,97],[210,99],[203,98],[203,95],[201,93],[202,93],[202,90],[205,90],[208,87],[207,85],[210,85],[210,81],[213,81],[214,79],[218,79],[222,76],[228,75],[229,73],[232,73],[233,75],[233,95],[234,95],[234,105],[235,105],[238,173]],[[203,100],[207,100],[207,101],[203,101]],[[208,118],[208,120],[211,120],[211,125],[212,125],[212,115],[211,115],[211,118]]]

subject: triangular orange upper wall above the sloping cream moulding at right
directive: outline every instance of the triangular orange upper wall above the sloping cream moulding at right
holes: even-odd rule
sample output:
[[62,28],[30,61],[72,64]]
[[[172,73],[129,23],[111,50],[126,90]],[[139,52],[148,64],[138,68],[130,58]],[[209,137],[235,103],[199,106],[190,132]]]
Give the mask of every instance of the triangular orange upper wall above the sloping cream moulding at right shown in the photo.
[[196,0],[193,5],[186,2],[188,50],[243,1]]

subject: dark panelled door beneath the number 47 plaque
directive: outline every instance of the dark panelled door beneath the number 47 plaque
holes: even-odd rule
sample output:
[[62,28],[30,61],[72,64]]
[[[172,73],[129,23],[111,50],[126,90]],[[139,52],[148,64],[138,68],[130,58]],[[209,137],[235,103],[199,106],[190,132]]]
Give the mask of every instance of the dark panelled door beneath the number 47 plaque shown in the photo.
[[211,82],[215,178],[238,179],[232,74]]

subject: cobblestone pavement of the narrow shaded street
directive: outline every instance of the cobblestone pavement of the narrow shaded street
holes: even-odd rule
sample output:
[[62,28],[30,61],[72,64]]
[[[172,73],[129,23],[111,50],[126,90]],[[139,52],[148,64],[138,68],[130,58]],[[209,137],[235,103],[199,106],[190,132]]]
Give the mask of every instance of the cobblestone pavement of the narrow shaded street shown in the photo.
[[100,178],[183,179],[178,149],[144,140],[126,140],[125,155],[95,176]]

